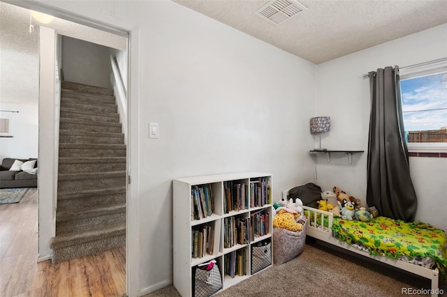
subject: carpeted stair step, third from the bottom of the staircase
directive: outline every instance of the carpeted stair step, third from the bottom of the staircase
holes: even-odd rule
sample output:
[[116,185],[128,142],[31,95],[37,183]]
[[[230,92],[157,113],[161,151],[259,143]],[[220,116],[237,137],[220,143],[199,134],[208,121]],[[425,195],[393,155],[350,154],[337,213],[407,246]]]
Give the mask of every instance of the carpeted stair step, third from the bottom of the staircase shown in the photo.
[[57,193],[57,211],[80,211],[126,203],[126,187]]

